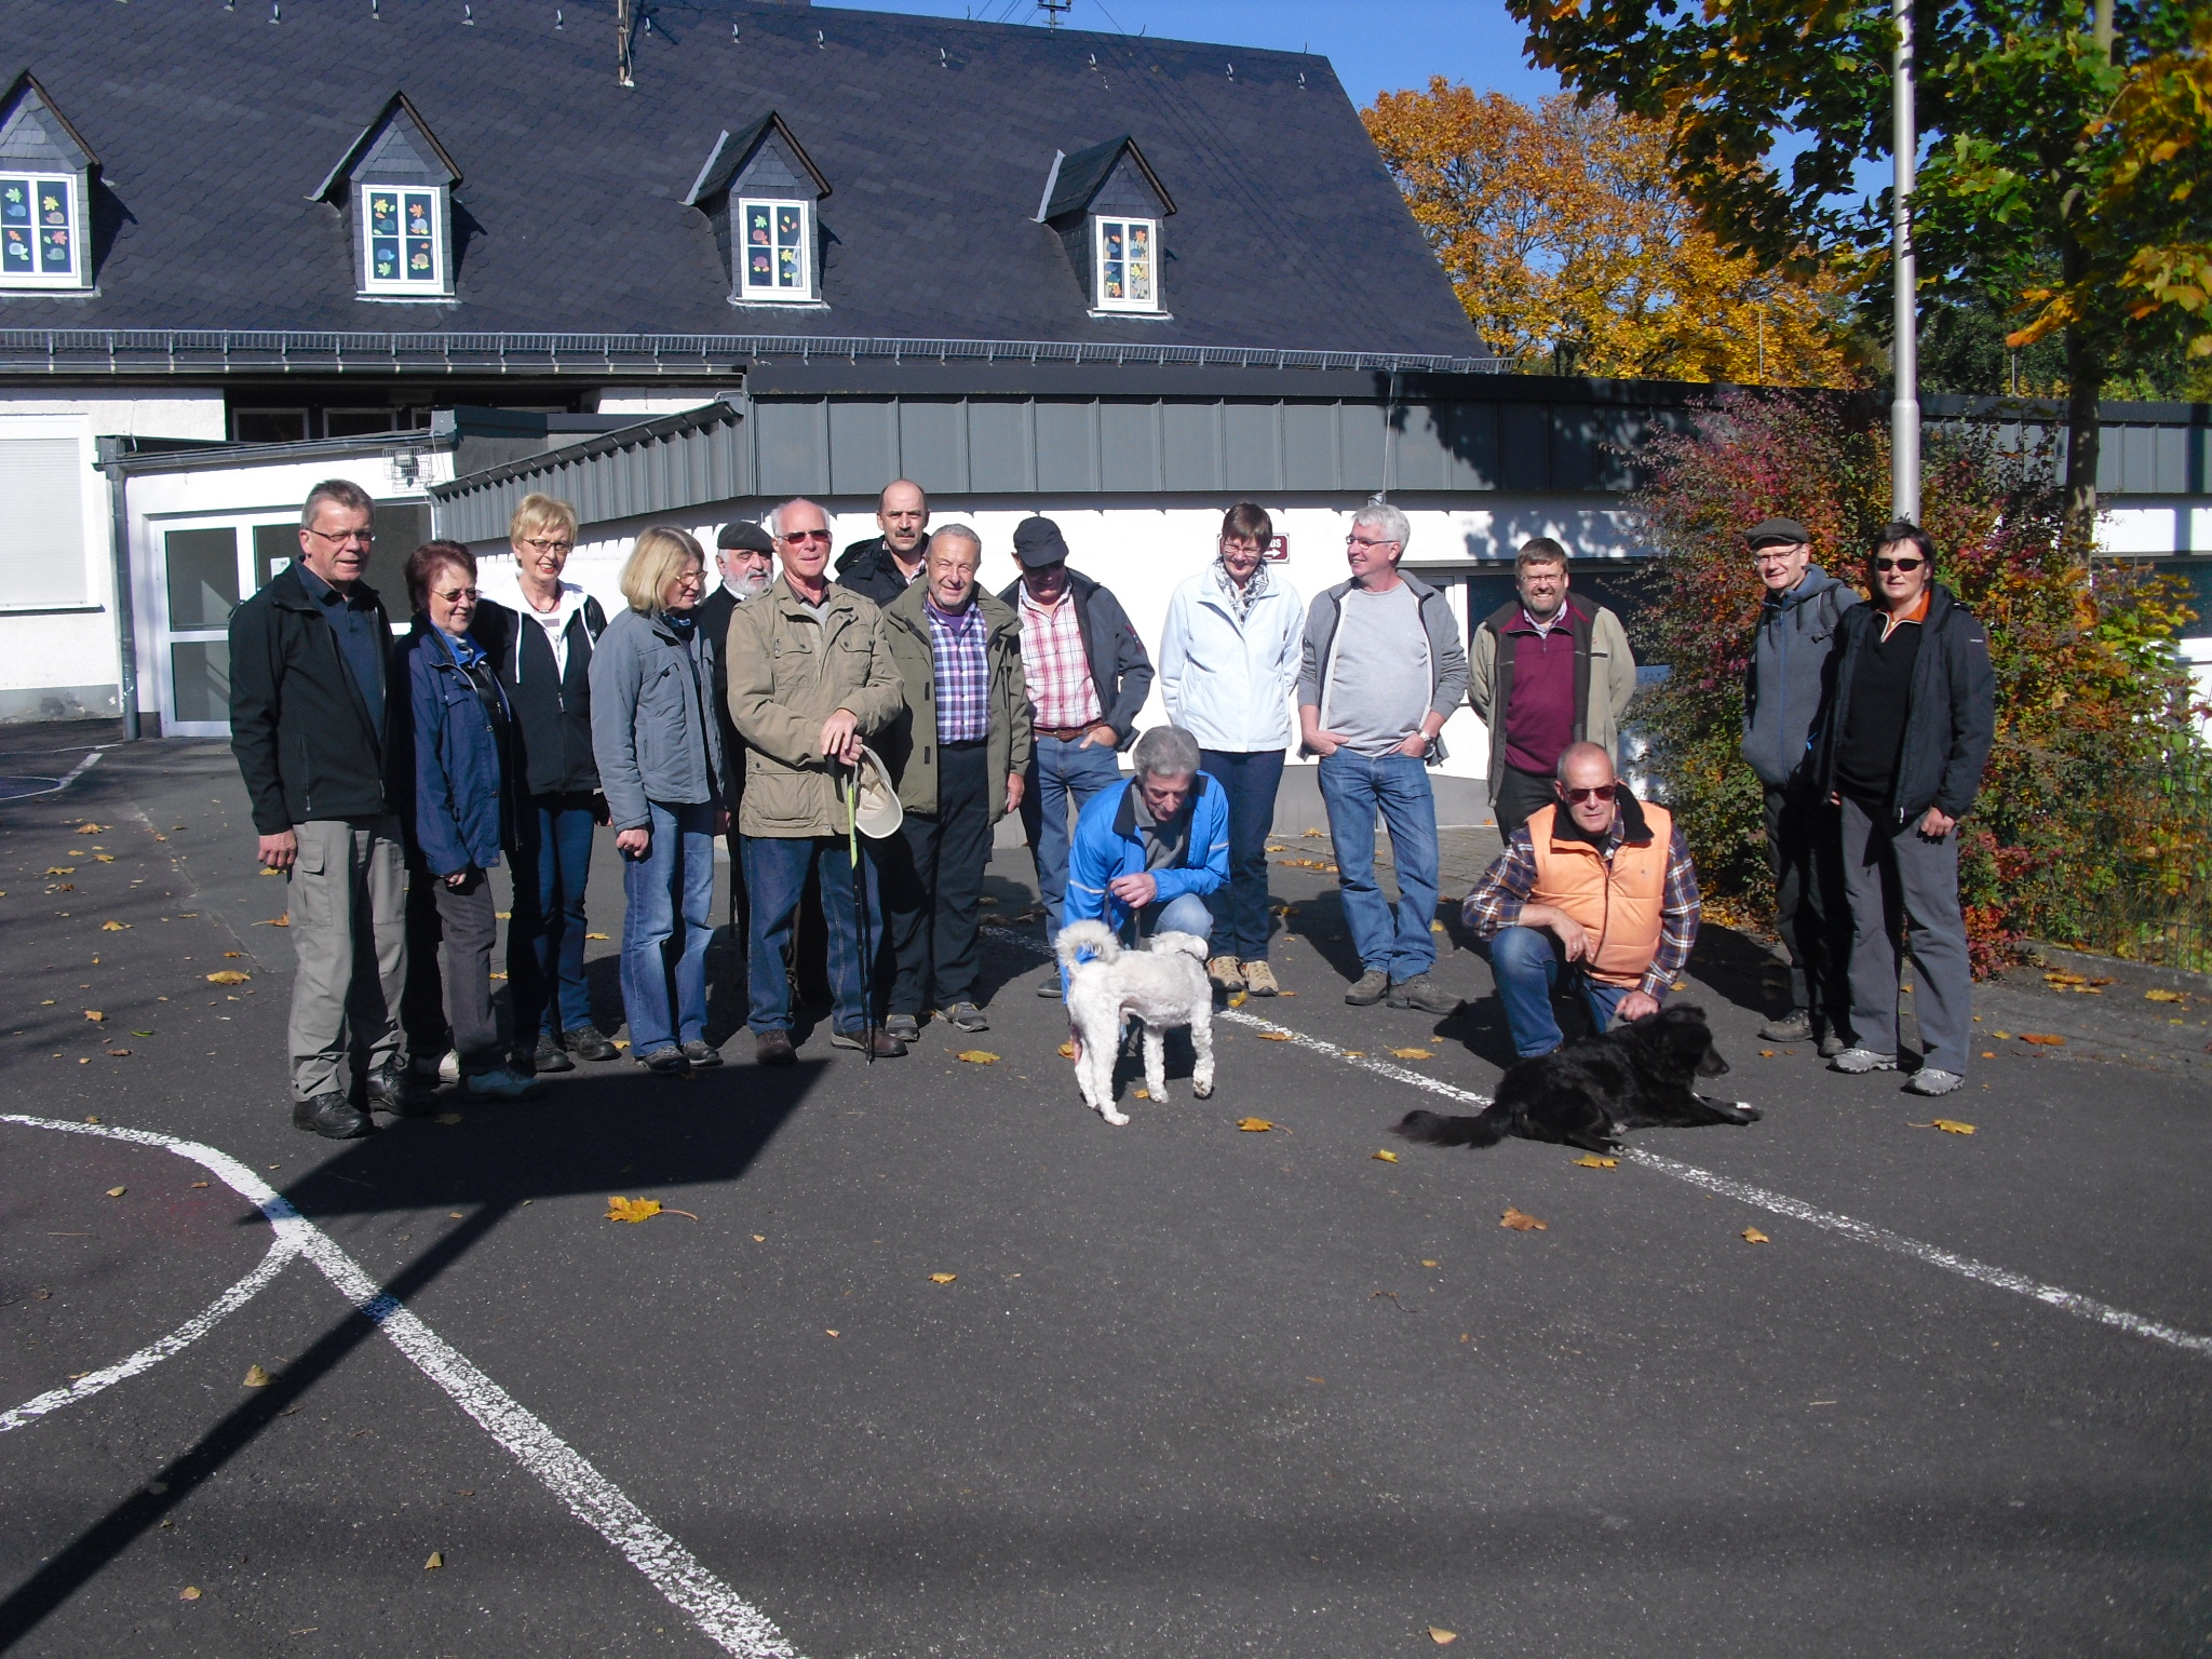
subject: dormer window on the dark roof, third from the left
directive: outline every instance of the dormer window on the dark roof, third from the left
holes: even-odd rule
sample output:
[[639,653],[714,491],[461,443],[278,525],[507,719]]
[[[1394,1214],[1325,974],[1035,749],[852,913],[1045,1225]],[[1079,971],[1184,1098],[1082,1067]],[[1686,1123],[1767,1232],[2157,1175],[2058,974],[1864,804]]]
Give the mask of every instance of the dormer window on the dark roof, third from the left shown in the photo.
[[732,305],[823,303],[818,204],[827,197],[830,179],[774,111],[714,139],[684,206],[714,228]]

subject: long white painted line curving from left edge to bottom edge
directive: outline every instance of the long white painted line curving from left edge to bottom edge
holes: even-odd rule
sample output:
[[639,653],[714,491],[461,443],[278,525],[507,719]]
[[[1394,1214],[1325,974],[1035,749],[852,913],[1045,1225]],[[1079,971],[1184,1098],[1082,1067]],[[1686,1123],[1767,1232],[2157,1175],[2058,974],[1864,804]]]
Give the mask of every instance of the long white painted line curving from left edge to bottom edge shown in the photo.
[[[58,1117],[22,1117],[0,1113],[0,1124],[55,1128],[69,1135],[93,1135],[133,1146],[155,1146],[190,1159],[223,1177],[239,1197],[254,1203],[279,1241],[305,1254],[338,1292],[392,1338],[431,1383],[445,1389],[462,1411],[498,1440],[524,1469],[560,1498],[568,1511],[599,1533],[644,1573],[653,1588],[690,1615],[723,1652],[737,1659],[799,1659],[774,1621],[714,1577],[688,1548],[661,1531],[646,1511],[630,1502],[615,1482],[526,1411],[507,1389],[471,1365],[460,1349],[438,1336],[398,1298],[376,1287],[376,1281],[338,1243],[307,1221],[292,1201],[228,1152],[175,1135],[106,1124],[71,1124]],[[257,1285],[259,1290],[259,1285]]]

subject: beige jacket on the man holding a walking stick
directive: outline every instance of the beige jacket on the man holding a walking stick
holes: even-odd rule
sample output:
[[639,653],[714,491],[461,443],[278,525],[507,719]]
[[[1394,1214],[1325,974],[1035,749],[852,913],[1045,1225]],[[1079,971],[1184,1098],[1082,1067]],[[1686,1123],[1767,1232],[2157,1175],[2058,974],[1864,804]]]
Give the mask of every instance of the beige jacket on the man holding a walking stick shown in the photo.
[[830,584],[823,622],[779,575],[730,615],[730,721],[745,739],[737,830],[794,841],[845,834],[845,803],[823,759],[823,721],[849,708],[860,741],[898,719],[898,666],[872,599]]

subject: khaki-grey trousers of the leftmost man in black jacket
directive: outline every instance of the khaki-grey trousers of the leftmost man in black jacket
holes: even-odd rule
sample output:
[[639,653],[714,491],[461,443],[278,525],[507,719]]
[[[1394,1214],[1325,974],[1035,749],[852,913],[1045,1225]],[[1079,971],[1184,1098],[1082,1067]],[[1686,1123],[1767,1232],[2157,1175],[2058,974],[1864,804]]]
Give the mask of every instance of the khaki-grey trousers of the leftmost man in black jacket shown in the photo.
[[314,1099],[398,1064],[407,865],[392,814],[316,818],[292,834],[292,1099]]

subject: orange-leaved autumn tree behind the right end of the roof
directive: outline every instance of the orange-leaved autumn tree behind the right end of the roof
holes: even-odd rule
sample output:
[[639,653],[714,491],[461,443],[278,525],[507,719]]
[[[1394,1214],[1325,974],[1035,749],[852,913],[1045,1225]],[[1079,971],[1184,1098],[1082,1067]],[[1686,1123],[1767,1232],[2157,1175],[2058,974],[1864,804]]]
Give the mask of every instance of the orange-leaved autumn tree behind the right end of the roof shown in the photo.
[[1608,100],[1528,108],[1442,75],[1360,111],[1475,330],[1559,374],[1845,385],[1843,285],[1730,257],[1666,128]]

